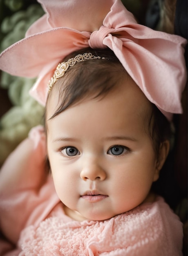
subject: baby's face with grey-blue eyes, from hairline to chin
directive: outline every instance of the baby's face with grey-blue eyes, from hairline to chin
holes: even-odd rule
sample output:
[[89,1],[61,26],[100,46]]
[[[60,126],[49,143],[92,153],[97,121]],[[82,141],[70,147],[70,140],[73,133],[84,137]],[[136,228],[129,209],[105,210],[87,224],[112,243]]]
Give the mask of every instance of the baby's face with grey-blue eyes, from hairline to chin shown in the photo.
[[[47,120],[57,100],[51,99]],[[159,170],[145,132],[149,102],[125,79],[103,99],[86,99],[47,121],[55,188],[75,220],[105,220],[147,198]]]

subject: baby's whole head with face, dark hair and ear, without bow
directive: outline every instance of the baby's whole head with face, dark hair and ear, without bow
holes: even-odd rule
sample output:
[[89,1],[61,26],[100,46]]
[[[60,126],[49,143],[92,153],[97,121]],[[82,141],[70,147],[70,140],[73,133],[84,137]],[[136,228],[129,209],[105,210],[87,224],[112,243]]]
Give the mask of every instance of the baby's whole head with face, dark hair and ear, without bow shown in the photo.
[[154,201],[169,141],[158,132],[166,130],[158,128],[161,112],[113,52],[89,52],[92,59],[69,67],[50,91],[47,152],[65,213],[105,220]]

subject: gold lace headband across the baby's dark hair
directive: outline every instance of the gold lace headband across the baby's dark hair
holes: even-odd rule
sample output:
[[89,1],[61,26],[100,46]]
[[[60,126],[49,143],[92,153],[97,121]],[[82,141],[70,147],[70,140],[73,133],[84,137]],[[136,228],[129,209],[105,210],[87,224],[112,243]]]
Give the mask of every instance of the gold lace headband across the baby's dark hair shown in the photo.
[[[65,72],[68,70],[69,66],[73,67],[77,62],[81,62],[81,61],[86,61],[86,60],[92,60],[92,59],[100,59],[100,56],[94,56],[91,53],[84,53],[84,54],[78,54],[76,55],[74,58],[69,58],[68,61],[66,62],[62,62],[59,63],[58,66],[56,67],[56,70],[54,72],[54,76],[52,76],[51,80],[49,81],[48,84],[48,92],[50,92],[52,86],[54,85],[54,83],[56,83],[56,81],[64,76]],[[102,59],[105,59],[104,57],[102,57]]]

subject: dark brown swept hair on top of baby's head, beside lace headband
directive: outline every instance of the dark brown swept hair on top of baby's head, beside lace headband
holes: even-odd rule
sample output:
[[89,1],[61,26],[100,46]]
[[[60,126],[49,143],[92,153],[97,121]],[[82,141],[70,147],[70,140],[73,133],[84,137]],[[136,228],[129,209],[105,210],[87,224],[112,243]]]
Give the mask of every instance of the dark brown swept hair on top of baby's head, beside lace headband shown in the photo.
[[74,67],[69,67],[62,78],[58,79],[47,99],[48,104],[53,94],[58,92],[58,108],[51,118],[87,96],[93,96],[93,98],[105,96],[122,79],[123,74],[128,77],[118,58],[109,48],[84,49],[70,54],[63,61],[85,52],[91,52],[94,56],[100,56],[103,59],[90,59],[76,63]]

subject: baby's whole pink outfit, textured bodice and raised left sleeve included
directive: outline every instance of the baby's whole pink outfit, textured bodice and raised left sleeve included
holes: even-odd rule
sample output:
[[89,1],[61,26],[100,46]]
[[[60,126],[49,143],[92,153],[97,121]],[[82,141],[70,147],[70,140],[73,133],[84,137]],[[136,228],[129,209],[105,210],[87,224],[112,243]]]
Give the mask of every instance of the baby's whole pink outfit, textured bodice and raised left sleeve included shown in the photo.
[[45,134],[36,127],[2,167],[0,225],[7,239],[1,239],[0,255],[182,255],[182,224],[163,198],[109,220],[72,220],[45,172],[45,158]]

